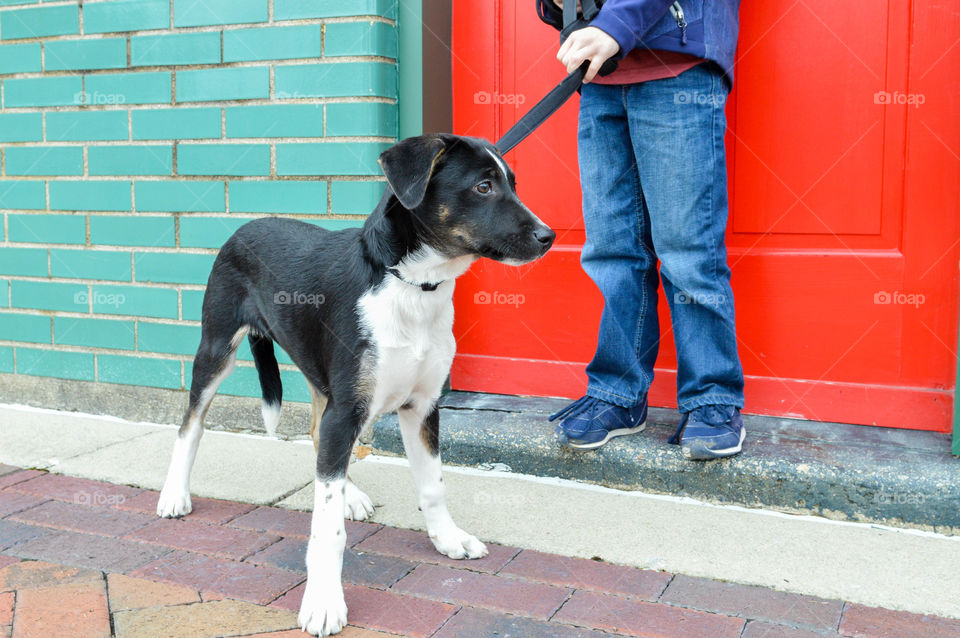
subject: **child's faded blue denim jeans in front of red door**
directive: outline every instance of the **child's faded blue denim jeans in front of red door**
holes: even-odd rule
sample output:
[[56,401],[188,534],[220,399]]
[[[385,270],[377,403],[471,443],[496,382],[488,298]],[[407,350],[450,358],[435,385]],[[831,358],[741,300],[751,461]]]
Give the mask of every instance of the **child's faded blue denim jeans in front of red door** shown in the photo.
[[590,396],[630,407],[646,395],[660,344],[662,278],[681,412],[743,407],[724,245],[727,93],[712,64],[675,78],[583,87],[581,264],[604,300],[597,351],[587,366]]

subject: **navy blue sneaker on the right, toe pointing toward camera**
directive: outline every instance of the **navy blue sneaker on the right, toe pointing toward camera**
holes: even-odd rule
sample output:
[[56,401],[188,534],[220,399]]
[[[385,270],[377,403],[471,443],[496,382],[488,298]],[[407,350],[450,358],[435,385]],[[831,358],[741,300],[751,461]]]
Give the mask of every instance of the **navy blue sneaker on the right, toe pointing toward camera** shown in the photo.
[[670,439],[683,455],[695,461],[739,454],[747,431],[740,409],[732,405],[703,405],[683,415]]

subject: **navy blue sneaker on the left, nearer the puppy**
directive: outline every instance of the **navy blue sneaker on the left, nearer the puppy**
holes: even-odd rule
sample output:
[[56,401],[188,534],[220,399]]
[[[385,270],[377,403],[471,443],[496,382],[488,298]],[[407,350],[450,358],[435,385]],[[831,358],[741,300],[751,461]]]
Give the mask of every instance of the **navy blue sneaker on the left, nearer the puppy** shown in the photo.
[[647,399],[632,408],[607,403],[594,397],[581,397],[550,415],[557,424],[557,439],[567,447],[593,450],[615,436],[634,434],[646,426]]

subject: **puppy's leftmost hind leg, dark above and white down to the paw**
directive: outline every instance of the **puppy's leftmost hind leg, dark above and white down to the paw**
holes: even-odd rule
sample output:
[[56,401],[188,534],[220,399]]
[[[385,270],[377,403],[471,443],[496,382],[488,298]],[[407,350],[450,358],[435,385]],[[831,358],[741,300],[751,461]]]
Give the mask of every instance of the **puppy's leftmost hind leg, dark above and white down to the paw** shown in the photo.
[[190,470],[197,455],[197,446],[203,435],[203,418],[213,401],[220,383],[230,376],[236,360],[237,346],[246,335],[246,328],[233,334],[209,330],[204,326],[200,347],[193,360],[193,381],[190,384],[190,404],[183,417],[183,424],[173,444],[173,456],[167,479],[160,490],[157,515],[165,518],[189,514]]

